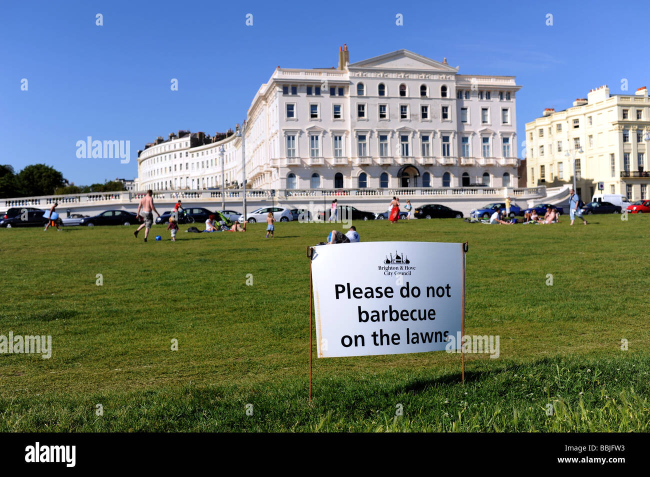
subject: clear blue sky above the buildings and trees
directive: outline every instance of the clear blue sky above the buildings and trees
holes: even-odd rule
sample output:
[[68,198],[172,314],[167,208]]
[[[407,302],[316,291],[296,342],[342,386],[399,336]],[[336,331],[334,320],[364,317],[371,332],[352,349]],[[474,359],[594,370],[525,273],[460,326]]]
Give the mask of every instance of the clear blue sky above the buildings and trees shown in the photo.
[[[461,74],[515,75],[517,133],[590,88],[649,81],[647,5],[611,2],[47,1],[0,12],[0,164],[44,162],[75,184],[137,174],[136,151],[179,129],[226,131],[274,68],[405,48]],[[103,26],[96,26],[96,14]],[[246,26],[246,14],[253,26]],[[395,15],[404,25],[395,25]],[[553,25],[546,25],[546,15]],[[21,79],[29,90],[21,91]],[[170,90],[172,78],[179,90]],[[621,91],[621,79],[629,91]],[[650,84],[648,84],[650,86]],[[131,162],[77,159],[78,140],[130,140]],[[519,147],[521,151],[521,147]]]

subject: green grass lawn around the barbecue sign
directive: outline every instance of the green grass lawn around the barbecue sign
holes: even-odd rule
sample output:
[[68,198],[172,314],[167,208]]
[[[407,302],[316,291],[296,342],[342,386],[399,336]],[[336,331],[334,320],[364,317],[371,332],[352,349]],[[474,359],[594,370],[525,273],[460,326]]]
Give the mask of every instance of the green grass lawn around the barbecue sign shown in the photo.
[[163,226],[148,243],[135,227],[0,229],[0,335],[53,348],[0,354],[0,430],[650,429],[650,216],[355,225],[362,241],[469,242],[465,332],[500,335],[499,359],[467,355],[463,386],[458,354],[314,357],[310,403],[305,247],[331,226],[181,226],[175,243]]

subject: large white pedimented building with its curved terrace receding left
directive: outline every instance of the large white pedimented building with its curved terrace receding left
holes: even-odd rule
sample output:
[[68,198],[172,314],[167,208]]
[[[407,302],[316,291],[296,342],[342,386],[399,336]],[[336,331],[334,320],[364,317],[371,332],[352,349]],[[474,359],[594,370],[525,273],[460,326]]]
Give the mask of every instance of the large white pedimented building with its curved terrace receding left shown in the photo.
[[[336,69],[278,67],[246,115],[247,187],[517,187],[520,88],[404,49],[349,63],[344,47]],[[237,187],[241,164],[232,131],[179,131],[138,152],[137,188]]]

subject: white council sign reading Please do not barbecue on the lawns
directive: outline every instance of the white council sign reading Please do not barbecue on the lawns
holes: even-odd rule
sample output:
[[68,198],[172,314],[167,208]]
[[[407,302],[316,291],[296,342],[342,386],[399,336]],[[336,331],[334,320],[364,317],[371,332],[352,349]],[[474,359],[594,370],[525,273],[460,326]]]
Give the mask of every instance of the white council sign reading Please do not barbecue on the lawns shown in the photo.
[[313,248],[318,357],[443,351],[461,333],[463,244]]

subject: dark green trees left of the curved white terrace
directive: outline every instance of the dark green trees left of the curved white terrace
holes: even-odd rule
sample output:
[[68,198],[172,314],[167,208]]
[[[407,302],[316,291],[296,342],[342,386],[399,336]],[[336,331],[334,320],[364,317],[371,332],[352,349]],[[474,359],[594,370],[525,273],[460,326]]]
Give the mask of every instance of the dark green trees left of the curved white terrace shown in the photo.
[[0,164],[0,198],[85,194],[87,192],[112,192],[113,190],[126,189],[120,181],[81,186],[68,183],[63,174],[45,164],[26,166],[18,174],[14,172],[12,166]]

